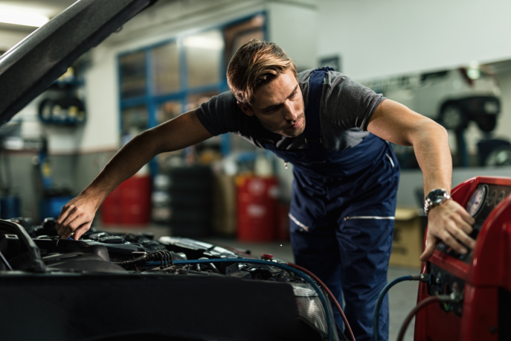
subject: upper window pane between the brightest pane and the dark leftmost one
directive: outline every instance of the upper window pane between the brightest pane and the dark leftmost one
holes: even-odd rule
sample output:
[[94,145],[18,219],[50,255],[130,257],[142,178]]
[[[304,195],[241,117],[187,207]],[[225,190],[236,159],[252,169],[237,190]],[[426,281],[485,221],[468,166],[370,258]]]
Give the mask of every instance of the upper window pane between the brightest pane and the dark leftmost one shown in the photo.
[[156,95],[179,90],[179,53],[176,42],[153,49],[153,75]]

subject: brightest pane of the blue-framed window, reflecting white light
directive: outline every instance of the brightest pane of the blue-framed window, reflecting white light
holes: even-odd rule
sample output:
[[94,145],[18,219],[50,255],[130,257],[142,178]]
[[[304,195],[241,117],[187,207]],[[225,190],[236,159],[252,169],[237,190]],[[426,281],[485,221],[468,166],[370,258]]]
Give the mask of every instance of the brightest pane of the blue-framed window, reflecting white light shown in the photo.
[[187,56],[188,86],[219,82],[220,63],[224,41],[218,30],[183,39]]

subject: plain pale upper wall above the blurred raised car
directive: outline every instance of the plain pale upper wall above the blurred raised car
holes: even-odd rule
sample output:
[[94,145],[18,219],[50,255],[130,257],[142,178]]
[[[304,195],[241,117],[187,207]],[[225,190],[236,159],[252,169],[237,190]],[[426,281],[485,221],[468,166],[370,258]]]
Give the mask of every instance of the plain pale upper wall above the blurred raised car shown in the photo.
[[317,0],[318,54],[367,79],[511,57],[508,0]]

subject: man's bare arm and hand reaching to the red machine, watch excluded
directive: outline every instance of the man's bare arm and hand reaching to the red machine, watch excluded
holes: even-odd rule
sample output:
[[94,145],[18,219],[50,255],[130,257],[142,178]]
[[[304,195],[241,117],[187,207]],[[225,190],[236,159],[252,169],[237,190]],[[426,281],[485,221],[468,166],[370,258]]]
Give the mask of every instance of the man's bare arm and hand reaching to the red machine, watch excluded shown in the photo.
[[[402,146],[413,146],[424,178],[424,193],[443,188],[451,192],[452,160],[444,127],[392,100],[384,100],[369,120],[367,130],[380,138]],[[474,219],[454,200],[436,206],[428,213],[425,261],[433,254],[438,239],[461,254],[467,253],[454,238],[473,248]]]

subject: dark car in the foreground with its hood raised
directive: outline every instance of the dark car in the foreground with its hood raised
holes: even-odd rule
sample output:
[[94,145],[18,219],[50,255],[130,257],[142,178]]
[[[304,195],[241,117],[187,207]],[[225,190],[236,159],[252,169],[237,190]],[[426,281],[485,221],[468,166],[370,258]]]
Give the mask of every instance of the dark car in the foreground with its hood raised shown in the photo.
[[[0,121],[156,0],[80,0],[0,58]],[[345,340],[328,289],[281,260],[193,239],[0,220],[2,339]]]

